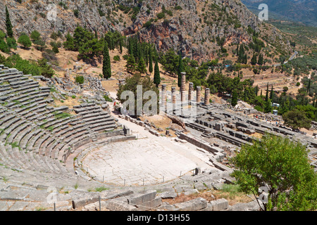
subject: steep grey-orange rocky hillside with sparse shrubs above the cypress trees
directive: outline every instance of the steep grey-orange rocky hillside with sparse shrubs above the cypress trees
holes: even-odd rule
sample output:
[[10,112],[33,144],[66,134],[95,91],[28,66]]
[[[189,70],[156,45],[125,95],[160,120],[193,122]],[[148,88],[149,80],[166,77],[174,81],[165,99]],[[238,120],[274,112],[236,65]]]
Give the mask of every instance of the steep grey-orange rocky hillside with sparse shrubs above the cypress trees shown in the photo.
[[[8,6],[15,34],[37,30],[73,32],[77,24],[99,34],[118,30],[125,35],[139,35],[161,51],[175,49],[194,60],[216,58],[221,49],[230,50],[237,43],[249,44],[259,32],[270,50],[289,52],[282,33],[261,22],[240,0],[16,0],[3,1]],[[5,7],[0,7],[0,29],[6,30]],[[232,47],[235,49],[235,47]],[[230,51],[228,52],[230,53]]]

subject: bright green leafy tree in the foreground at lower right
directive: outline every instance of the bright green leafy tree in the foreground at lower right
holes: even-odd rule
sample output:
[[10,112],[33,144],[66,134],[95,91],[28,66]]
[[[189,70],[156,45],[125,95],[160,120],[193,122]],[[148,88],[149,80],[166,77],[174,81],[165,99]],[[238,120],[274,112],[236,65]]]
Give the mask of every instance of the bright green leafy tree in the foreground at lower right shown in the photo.
[[261,186],[268,188],[263,210],[316,210],[317,176],[302,143],[266,134],[242,146],[231,162],[242,191],[256,196]]

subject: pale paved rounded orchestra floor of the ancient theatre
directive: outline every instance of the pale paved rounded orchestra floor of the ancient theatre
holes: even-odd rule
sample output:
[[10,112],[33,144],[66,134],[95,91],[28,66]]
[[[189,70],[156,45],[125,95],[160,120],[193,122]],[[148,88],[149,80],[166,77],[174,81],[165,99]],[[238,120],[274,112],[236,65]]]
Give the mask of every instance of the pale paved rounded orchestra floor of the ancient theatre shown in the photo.
[[173,180],[196,167],[210,167],[208,161],[190,143],[137,139],[91,150],[82,160],[82,168],[107,184],[142,186]]

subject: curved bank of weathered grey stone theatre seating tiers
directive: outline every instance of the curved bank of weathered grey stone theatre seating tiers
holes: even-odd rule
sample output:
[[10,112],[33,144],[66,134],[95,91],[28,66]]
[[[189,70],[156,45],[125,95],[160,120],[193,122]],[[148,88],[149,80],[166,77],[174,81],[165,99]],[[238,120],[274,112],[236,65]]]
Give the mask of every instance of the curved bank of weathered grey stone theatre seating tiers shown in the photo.
[[50,86],[39,86],[37,77],[0,65],[2,176],[43,185],[58,180],[74,184],[80,176],[66,167],[68,156],[103,134],[120,133],[116,120],[96,103],[76,105],[70,113],[66,106],[49,105],[54,101],[50,92]]

